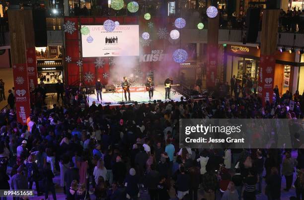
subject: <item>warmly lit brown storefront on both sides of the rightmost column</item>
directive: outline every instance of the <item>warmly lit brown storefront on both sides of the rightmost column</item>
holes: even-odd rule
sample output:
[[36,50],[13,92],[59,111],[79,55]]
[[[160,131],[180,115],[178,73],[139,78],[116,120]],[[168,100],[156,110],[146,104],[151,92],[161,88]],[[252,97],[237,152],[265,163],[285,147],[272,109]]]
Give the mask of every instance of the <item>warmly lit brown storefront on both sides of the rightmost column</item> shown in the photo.
[[[250,76],[253,80],[255,78],[258,79],[260,50],[257,47],[227,45],[225,52],[225,56],[227,56],[226,81],[228,83],[230,83],[230,78],[233,75],[239,82],[244,76]],[[274,85],[278,85],[281,95],[286,90],[293,91],[293,75],[295,74],[293,73],[293,68],[301,66],[301,63],[295,62],[295,57],[295,53],[280,53],[279,51],[276,53]]]

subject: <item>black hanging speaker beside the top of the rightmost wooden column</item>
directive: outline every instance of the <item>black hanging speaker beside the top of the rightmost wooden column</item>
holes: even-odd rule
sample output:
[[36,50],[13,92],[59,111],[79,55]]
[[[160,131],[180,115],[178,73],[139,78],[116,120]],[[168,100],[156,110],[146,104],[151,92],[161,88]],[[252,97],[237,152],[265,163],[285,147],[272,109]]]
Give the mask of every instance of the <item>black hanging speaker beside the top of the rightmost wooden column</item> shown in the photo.
[[255,43],[260,27],[260,8],[250,7],[246,16],[246,42]]

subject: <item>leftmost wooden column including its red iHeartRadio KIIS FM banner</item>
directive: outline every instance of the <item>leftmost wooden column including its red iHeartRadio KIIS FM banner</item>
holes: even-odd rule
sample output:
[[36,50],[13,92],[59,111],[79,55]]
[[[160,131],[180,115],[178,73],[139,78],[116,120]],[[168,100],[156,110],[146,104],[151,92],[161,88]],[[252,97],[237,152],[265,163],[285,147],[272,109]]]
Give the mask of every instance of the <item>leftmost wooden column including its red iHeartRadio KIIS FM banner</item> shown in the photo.
[[24,10],[8,9],[11,60],[15,87],[17,121],[25,125],[30,115],[30,94],[27,77]]

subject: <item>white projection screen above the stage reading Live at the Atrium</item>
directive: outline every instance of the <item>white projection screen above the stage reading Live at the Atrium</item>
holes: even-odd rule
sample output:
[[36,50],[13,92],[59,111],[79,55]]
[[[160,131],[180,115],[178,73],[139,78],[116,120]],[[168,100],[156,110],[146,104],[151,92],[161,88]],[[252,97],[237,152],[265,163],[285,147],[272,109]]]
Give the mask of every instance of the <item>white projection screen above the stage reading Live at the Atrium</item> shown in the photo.
[[[83,25],[82,57],[139,56],[139,25],[119,25],[106,32],[102,25]],[[85,30],[85,28],[84,28]]]

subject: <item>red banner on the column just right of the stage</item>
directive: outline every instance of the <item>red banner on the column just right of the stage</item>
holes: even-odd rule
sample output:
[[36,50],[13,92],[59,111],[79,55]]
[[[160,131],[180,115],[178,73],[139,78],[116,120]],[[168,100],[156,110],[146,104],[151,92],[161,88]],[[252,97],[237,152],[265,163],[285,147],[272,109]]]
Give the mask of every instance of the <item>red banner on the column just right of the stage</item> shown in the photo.
[[218,48],[217,45],[208,44],[208,65],[206,69],[206,76],[209,78],[207,83],[208,87],[215,87],[216,75],[217,75],[217,64],[218,64]]

